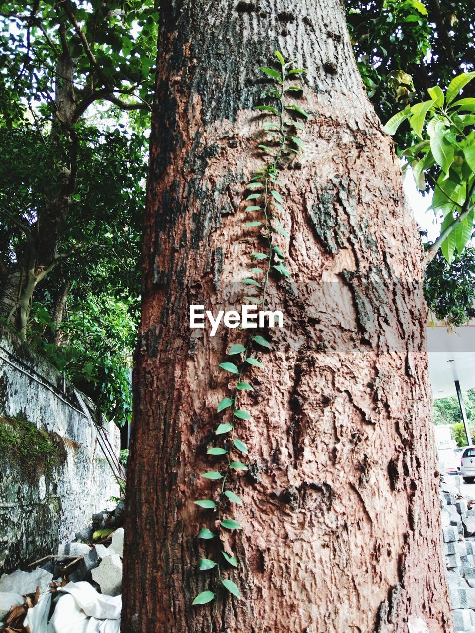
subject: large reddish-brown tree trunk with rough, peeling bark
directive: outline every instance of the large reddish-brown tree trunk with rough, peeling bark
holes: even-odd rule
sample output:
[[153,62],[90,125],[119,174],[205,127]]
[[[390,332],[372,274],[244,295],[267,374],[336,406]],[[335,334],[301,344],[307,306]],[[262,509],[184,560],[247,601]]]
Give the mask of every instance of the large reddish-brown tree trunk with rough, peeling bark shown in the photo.
[[[204,633],[218,589],[216,498],[200,477],[219,369],[244,332],[190,330],[189,304],[246,303],[240,282],[258,229],[243,229],[256,149],[258,66],[278,49],[308,69],[307,150],[281,172],[277,241],[292,280],[272,278],[285,313],[274,351],[239,406],[250,449],[222,565],[242,598],[220,603],[229,633],[452,631],[421,292],[421,247],[398,160],[358,76],[338,0],[170,0],[162,4],[144,241],[141,334],[127,473],[125,633]],[[288,243],[287,243],[288,242]],[[198,332],[198,334],[197,334]],[[231,360],[231,359],[228,359]],[[222,414],[223,415],[223,414]],[[227,419],[227,418],[224,418]],[[213,461],[214,460],[214,461]],[[422,627],[422,628],[421,628]]]

